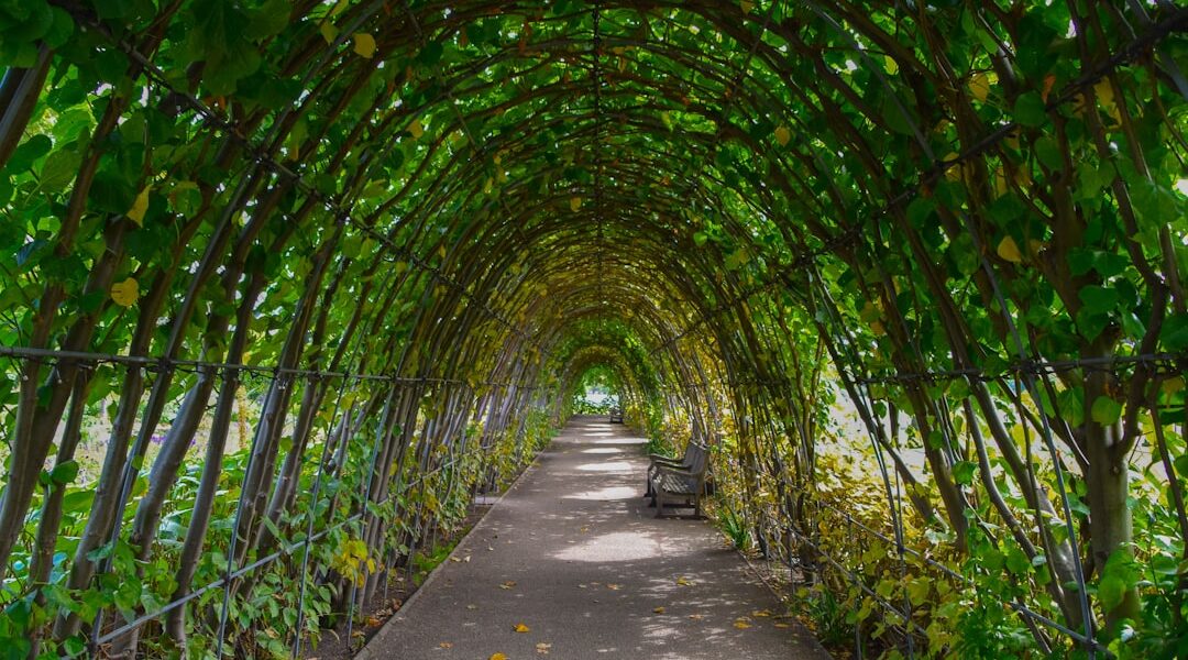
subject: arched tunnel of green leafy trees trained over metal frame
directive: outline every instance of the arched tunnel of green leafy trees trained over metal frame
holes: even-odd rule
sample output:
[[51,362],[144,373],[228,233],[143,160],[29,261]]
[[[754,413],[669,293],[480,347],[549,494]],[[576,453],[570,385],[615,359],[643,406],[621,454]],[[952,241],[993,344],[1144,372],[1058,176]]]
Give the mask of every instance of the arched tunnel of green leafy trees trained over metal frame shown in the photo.
[[1188,653],[1186,27],[0,2],[0,647],[299,654],[602,366],[821,630]]

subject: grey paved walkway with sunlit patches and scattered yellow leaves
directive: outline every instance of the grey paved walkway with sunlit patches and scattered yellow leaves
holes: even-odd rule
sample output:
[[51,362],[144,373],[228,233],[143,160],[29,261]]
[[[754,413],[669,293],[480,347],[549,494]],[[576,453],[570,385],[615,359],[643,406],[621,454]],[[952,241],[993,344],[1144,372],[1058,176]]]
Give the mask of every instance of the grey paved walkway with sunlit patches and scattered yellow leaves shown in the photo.
[[829,658],[710,525],[652,518],[643,442],[574,418],[359,658]]

